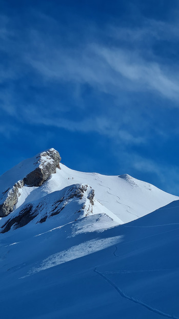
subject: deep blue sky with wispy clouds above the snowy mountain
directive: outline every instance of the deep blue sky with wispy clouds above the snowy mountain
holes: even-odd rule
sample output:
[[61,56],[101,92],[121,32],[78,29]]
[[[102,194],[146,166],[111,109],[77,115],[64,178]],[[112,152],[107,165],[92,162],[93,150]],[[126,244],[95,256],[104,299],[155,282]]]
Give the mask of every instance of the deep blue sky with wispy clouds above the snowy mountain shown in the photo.
[[54,147],[179,195],[178,1],[0,7],[0,174]]

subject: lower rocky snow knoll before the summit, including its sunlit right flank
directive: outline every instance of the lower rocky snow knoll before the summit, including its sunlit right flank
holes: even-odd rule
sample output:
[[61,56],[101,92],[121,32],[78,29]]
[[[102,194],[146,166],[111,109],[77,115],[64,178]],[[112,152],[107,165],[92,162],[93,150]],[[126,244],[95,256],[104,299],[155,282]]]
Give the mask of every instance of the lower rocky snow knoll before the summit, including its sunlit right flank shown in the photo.
[[112,226],[123,223],[100,202],[96,201],[94,190],[89,185],[74,184],[65,187],[62,191],[53,192],[42,199],[22,205],[11,214],[10,218],[7,216],[1,220],[0,233],[21,228],[30,222],[32,223],[32,221],[33,224],[44,223],[47,219],[49,221],[56,215],[58,215],[58,218],[54,221],[54,227],[56,222],[59,227],[98,213],[108,215],[114,221]]

